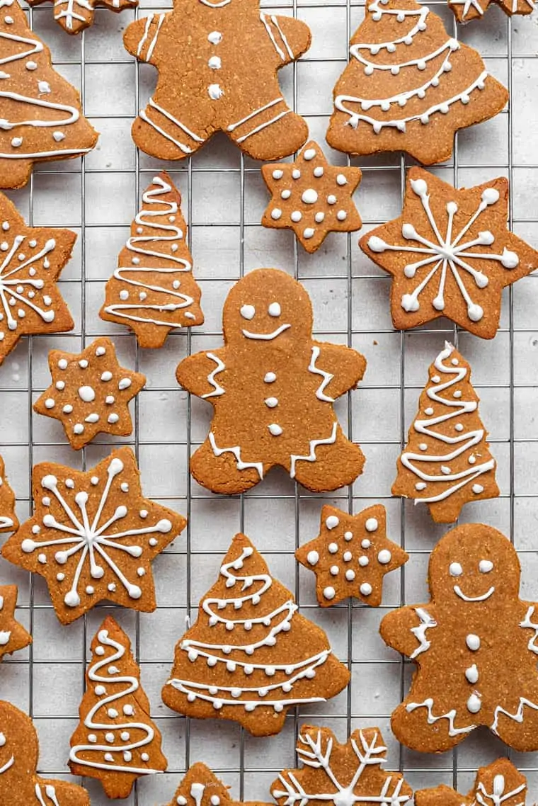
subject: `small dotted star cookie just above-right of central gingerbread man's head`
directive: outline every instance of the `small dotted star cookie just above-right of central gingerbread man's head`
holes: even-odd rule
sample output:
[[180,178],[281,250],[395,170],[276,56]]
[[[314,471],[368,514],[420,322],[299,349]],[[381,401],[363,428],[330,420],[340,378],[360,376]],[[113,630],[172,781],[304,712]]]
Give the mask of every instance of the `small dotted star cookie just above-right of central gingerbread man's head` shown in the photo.
[[306,251],[316,251],[329,232],[362,227],[353,202],[360,168],[329,165],[313,140],[295,162],[263,165],[262,176],[272,194],[263,226],[293,230]]

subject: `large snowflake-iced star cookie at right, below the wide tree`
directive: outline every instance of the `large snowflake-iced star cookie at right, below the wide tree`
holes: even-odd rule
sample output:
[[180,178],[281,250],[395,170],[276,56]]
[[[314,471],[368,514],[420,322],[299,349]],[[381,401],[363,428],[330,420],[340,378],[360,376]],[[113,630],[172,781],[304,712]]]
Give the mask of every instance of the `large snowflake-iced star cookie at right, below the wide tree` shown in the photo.
[[504,177],[457,190],[411,168],[399,218],[359,241],[393,276],[392,322],[399,330],[446,316],[493,339],[503,288],[538,268],[538,251],[507,229]]

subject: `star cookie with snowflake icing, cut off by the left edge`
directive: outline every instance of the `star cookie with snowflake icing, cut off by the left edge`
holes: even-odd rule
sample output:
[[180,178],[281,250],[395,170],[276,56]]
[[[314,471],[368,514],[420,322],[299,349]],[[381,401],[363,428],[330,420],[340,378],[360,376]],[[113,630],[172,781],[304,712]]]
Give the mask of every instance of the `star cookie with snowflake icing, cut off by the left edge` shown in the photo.
[[0,364],[21,336],[75,326],[56,280],[76,239],[70,230],[27,226],[0,193]]

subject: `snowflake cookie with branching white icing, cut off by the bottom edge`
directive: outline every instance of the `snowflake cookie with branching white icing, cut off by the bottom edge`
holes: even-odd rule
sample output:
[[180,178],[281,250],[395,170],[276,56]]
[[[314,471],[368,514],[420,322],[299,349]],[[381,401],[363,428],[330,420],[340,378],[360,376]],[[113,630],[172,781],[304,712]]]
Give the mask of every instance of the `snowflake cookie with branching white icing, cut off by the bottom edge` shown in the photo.
[[354,730],[341,745],[329,728],[302,725],[296,752],[302,769],[284,770],[271,787],[279,806],[399,806],[411,799],[401,772],[383,770],[387,748],[379,728]]

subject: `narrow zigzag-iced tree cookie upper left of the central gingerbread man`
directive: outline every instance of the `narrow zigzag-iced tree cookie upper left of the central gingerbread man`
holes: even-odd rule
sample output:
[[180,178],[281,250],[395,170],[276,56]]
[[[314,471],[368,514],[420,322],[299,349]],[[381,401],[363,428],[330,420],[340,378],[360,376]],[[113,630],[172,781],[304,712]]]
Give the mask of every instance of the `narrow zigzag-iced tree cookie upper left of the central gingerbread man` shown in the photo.
[[180,192],[159,173],[143,193],[99,311],[101,319],[130,327],[140,347],[162,347],[174,327],[204,322],[186,238]]

